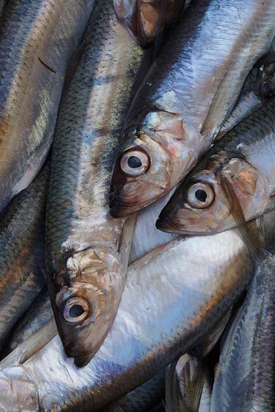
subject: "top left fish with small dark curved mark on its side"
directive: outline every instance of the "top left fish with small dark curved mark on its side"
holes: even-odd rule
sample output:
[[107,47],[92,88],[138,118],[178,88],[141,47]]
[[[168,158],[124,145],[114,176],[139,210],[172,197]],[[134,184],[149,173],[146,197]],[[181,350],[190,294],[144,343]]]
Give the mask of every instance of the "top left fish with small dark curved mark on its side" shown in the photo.
[[0,211],[50,150],[67,67],[94,0],[9,0],[0,18]]

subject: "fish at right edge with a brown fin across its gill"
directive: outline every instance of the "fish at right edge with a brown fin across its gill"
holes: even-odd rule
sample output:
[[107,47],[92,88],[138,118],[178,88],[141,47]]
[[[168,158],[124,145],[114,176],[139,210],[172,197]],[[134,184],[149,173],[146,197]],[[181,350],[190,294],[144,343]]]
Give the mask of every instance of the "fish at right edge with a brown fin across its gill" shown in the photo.
[[235,227],[221,188],[223,175],[230,179],[246,221],[274,208],[274,150],[275,100],[272,99],[209,150],[162,210],[157,229],[201,235]]

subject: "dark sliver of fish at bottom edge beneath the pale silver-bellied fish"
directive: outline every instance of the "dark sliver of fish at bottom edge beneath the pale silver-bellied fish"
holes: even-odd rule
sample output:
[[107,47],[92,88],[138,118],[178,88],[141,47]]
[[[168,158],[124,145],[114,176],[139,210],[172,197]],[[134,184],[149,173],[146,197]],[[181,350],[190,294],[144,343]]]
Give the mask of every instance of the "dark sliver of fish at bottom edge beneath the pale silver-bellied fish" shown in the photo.
[[149,412],[164,399],[164,370],[100,412]]

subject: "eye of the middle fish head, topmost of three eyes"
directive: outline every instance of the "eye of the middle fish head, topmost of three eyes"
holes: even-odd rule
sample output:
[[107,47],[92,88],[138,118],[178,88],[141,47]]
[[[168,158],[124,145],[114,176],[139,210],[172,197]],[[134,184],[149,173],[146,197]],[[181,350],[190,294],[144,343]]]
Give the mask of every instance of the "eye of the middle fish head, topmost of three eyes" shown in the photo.
[[120,167],[127,176],[140,176],[148,169],[149,157],[142,150],[125,152],[120,161]]

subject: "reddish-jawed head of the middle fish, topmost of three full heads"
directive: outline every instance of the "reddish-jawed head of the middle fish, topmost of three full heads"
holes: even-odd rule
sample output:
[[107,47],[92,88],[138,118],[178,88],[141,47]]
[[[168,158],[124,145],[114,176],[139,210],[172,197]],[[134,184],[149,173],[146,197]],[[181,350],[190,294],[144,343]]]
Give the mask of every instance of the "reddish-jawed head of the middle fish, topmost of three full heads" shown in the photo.
[[164,111],[147,113],[138,127],[124,131],[109,194],[114,218],[133,214],[177,185],[192,163],[193,133],[186,133],[180,115]]

